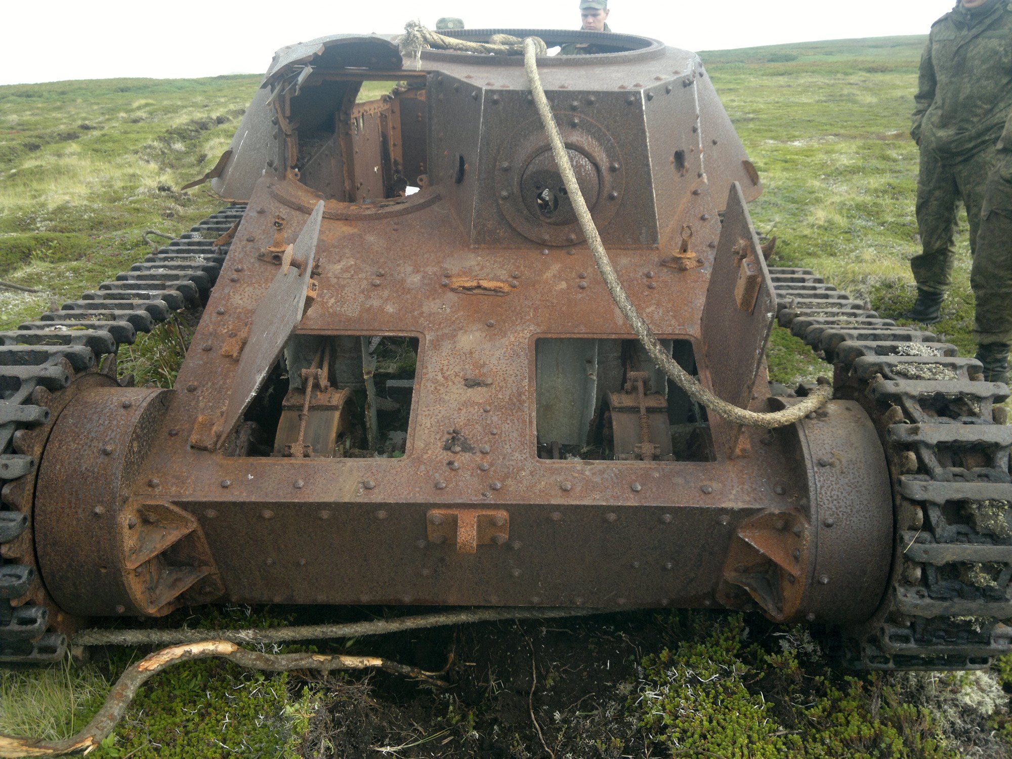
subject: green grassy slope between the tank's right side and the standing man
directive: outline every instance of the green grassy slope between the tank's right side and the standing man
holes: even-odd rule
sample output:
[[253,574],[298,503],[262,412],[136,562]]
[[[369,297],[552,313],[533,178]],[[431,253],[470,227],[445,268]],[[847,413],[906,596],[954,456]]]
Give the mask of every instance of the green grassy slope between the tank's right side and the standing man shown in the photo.
[[[916,298],[908,262],[920,252],[918,153],[908,133],[925,41],[882,37],[702,54],[762,177],[765,193],[751,212],[760,231],[779,237],[775,263],[813,268],[884,318],[899,318]],[[957,244],[954,285],[933,331],[973,355],[964,220]],[[792,385],[819,373],[785,331],[775,331],[772,345],[774,380]]]

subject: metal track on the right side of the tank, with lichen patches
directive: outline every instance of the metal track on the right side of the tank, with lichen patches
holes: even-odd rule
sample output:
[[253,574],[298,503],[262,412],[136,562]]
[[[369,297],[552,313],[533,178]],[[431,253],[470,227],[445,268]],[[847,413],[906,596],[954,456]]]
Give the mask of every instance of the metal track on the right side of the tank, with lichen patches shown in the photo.
[[[1005,385],[930,333],[879,318],[810,269],[770,268],[778,320],[834,363],[886,449],[897,524],[887,598],[834,637],[858,669],[963,670],[1012,651],[1012,427]],[[802,391],[804,393],[804,390]]]

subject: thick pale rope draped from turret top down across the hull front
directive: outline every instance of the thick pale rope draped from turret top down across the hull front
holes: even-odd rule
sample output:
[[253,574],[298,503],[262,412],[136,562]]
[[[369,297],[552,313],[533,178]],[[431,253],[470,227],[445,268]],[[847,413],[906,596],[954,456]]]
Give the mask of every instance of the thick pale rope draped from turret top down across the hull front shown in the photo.
[[534,105],[537,106],[537,113],[544,124],[544,131],[549,134],[549,140],[552,143],[552,153],[555,156],[556,163],[559,165],[563,183],[566,185],[566,191],[573,202],[573,209],[576,212],[577,220],[580,222],[580,228],[587,238],[587,245],[594,256],[597,270],[604,279],[604,283],[608,286],[611,300],[615,302],[618,311],[621,312],[625,321],[628,322],[629,327],[632,328],[636,336],[647,349],[647,353],[654,359],[654,363],[661,367],[664,373],[685,391],[693,401],[705,406],[719,416],[746,427],[761,427],[764,429],[786,427],[800,421],[812,412],[825,406],[833,397],[833,388],[829,385],[820,384],[808,398],[782,411],[759,413],[740,409],[734,404],[718,398],[699,385],[661,347],[657,338],[654,337],[650,325],[640,316],[640,313],[636,310],[628,294],[625,292],[625,288],[622,287],[621,282],[618,280],[618,274],[615,273],[615,269],[611,265],[607,251],[605,251],[604,245],[601,243],[601,236],[594,226],[593,217],[591,217],[587,202],[580,191],[580,184],[577,182],[576,174],[573,172],[573,164],[570,163],[566,145],[563,142],[562,135],[559,133],[559,125],[556,123],[552,106],[544,96],[544,89],[541,87],[541,80],[537,74],[537,62],[535,60],[538,55],[537,44],[533,39],[528,38],[524,40],[523,45],[524,67],[527,71],[527,80],[530,83],[531,93],[534,96]]

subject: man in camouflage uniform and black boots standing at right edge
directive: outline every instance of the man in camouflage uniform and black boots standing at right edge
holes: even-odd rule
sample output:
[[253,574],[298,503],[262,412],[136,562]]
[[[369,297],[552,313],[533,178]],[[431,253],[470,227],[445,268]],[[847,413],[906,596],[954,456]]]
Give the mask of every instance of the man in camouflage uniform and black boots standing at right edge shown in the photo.
[[961,0],[935,22],[915,100],[911,136],[921,148],[917,223],[923,252],[911,260],[918,298],[908,317],[926,324],[940,319],[952,281],[956,203],[962,200],[974,256],[978,358],[987,378],[1004,381],[1012,342],[1009,0]]

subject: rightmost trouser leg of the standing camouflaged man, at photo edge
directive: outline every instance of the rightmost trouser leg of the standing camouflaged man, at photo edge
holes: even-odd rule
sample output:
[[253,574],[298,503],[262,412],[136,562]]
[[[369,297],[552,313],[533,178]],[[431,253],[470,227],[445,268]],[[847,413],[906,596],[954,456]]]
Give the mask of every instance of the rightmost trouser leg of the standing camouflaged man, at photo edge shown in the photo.
[[1012,344],[1012,173],[1000,165],[988,175],[969,283],[974,339]]

